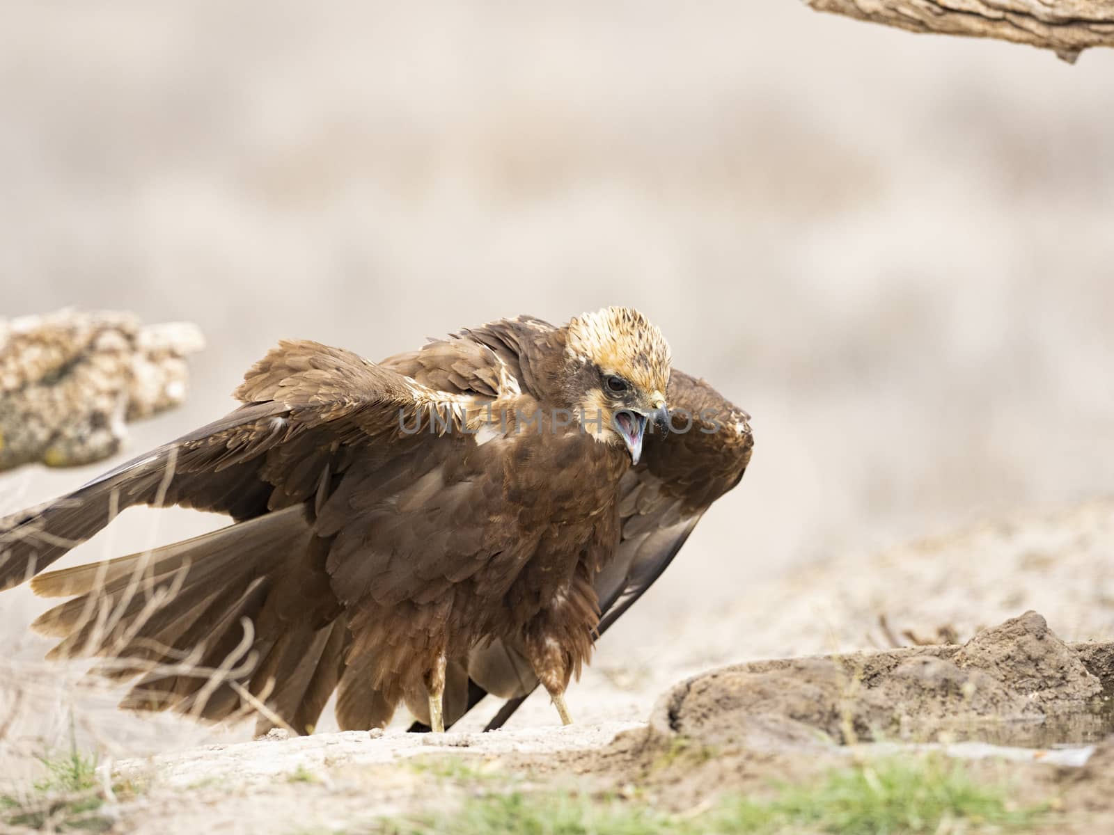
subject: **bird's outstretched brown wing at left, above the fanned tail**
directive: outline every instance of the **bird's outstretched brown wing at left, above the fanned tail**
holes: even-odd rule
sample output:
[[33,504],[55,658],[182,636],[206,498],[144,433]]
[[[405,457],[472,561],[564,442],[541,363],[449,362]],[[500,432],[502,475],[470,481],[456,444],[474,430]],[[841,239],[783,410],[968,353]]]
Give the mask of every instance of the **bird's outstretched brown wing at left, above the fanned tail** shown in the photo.
[[315,342],[280,343],[235,396],[243,405],[225,418],[62,499],[0,520],[0,590],[33,577],[135,504],[241,521],[306,501],[331,487],[358,446],[397,439],[402,425],[414,434],[430,424],[459,426],[469,402]]

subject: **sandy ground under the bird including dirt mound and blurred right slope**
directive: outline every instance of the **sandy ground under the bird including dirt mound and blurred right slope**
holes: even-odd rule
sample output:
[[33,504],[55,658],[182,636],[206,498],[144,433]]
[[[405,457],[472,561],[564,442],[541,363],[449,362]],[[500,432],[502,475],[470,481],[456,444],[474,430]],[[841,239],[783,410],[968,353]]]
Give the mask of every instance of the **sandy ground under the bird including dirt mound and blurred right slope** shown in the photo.
[[[398,729],[294,739],[277,733],[177,753],[166,737],[149,743],[160,750],[156,755],[110,763],[118,779],[144,788],[107,808],[120,832],[351,829],[380,815],[451,807],[476,780],[490,778],[526,789],[639,786],[661,805],[684,811],[720,792],[761,794],[771,779],[808,779],[885,740],[879,750],[940,744],[960,756],[1001,755],[985,767],[995,774],[1006,768],[1026,790],[1058,798],[1061,825],[1114,819],[1101,788],[1106,772],[1079,767],[1089,749],[1040,754],[1032,747],[1095,744],[1108,730],[1103,705],[1114,687],[1114,644],[1063,638],[1103,637],[1112,522],[1114,503],[1093,502],[871,558],[849,556],[860,572],[854,581],[847,564],[833,560],[768,582],[719,619],[710,615],[723,630],[715,632],[721,641],[733,641],[737,655],[779,646],[798,656],[840,651],[693,670],[676,684],[686,666],[706,669],[705,659],[732,651],[705,639],[706,625],[683,621],[690,631],[664,644],[668,650],[654,666],[635,657],[627,666],[594,668],[570,694],[588,718],[569,728],[556,726],[551,708],[536,698],[495,734],[476,733],[478,720],[471,720],[469,729],[443,738]],[[1045,600],[1034,591],[1039,583],[1033,572],[1057,583],[1061,595]],[[924,590],[936,595],[932,606],[924,602]],[[1047,620],[1018,612],[1036,601],[1051,603]],[[828,617],[800,615],[819,607]],[[1009,609],[1014,617],[979,628]],[[891,613],[886,629],[878,621],[882,612]],[[1057,620],[1067,625],[1063,631]],[[833,622],[842,629],[833,630]],[[942,632],[951,642],[916,646],[902,631],[918,641]],[[912,646],[861,651],[871,639]],[[860,651],[850,651],[854,647]],[[107,709],[92,716],[104,718]],[[671,755],[670,766],[659,767],[677,740],[685,748],[714,748],[716,756],[673,764]],[[962,740],[1014,747],[988,752],[964,748]],[[1105,743],[1093,755],[1096,763],[1110,756]],[[462,760],[468,776],[446,782],[458,769],[446,758]]]

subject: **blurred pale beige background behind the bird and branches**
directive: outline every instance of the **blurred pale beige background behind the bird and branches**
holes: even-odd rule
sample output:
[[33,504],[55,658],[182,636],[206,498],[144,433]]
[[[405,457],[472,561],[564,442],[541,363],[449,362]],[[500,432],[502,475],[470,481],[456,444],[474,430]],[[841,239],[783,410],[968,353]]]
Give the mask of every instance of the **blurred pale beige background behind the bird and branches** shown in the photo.
[[[127,456],[228,411],[280,338],[379,358],[608,304],[753,414],[742,485],[605,665],[837,554],[1111,492],[1110,52],[1069,67],[791,0],[2,18],[0,315],[128,310],[208,342]],[[0,477],[0,507],[108,463]],[[217,523],[129,511],[70,561]],[[47,646],[45,602],[0,601],[17,654]]]

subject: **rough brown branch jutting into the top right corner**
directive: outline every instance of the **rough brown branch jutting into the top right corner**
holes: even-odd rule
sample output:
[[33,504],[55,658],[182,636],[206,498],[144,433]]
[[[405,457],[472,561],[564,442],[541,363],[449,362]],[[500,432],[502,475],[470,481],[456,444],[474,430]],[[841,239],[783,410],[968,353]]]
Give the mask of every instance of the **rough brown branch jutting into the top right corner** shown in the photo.
[[804,0],[817,11],[911,32],[998,38],[1051,49],[1075,62],[1114,46],[1114,0]]

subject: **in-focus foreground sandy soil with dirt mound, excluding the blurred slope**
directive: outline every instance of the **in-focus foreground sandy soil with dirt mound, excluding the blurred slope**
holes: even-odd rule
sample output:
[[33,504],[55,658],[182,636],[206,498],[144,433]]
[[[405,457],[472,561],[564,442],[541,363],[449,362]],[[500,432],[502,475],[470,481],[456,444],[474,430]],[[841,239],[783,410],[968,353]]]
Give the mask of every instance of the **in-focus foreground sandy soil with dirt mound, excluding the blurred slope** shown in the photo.
[[[1110,743],[1017,745],[1032,744],[1040,728],[1048,743],[1102,741],[1111,689],[1114,645],[1069,646],[1043,617],[1026,612],[962,646],[714,670],[663,694],[648,723],[443,736],[377,730],[289,738],[275,730],[251,743],[124,760],[114,779],[141,790],[110,804],[106,815],[119,832],[360,831],[383,816],[451,809],[483,788],[622,794],[635,786],[657,806],[686,814],[725,792],[761,795],[774,780],[807,780],[849,755],[944,740],[939,749],[977,759],[977,770],[1008,773],[1015,787],[1055,797],[1057,831],[1067,831],[1114,816],[1114,803],[1096,786],[1110,780],[1095,766],[1110,758]],[[1078,716],[1096,721],[1077,738],[1056,736],[1069,727],[1058,719]],[[962,738],[1014,747],[954,743]],[[888,741],[869,744],[877,739]],[[916,745],[903,745],[910,740]]]

